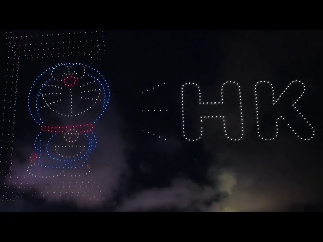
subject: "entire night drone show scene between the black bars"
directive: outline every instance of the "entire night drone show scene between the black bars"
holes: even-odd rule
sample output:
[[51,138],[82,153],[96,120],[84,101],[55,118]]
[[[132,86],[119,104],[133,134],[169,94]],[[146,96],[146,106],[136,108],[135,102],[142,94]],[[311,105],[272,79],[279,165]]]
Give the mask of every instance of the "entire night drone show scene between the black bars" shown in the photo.
[[1,211],[322,210],[307,34],[3,31]]

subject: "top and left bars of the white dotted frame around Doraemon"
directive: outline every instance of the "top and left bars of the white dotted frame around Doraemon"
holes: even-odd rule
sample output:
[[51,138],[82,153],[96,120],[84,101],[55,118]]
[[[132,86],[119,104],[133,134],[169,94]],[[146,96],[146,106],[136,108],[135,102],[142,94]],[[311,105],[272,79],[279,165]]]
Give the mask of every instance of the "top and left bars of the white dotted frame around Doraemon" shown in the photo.
[[22,61],[86,56],[92,66],[100,67],[105,49],[103,31],[37,31],[25,35],[16,31],[6,32],[5,38],[7,58],[1,105],[0,177],[6,177],[12,165]]

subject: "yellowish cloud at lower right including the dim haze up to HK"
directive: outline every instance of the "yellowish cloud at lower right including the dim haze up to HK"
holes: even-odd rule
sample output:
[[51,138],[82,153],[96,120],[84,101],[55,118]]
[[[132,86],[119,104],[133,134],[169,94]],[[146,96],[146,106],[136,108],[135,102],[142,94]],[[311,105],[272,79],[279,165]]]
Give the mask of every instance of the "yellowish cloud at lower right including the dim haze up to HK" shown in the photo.
[[310,148],[284,144],[213,152],[228,164],[216,176],[219,190],[228,196],[208,211],[286,211],[318,203],[323,186],[318,159],[311,159]]

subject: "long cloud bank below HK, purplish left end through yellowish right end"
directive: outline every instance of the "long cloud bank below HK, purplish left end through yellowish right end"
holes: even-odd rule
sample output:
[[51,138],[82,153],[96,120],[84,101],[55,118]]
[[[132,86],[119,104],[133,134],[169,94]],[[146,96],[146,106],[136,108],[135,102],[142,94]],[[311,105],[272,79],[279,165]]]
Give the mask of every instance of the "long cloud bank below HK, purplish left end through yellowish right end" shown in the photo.
[[216,143],[209,143],[213,155],[205,174],[209,184],[174,178],[169,186],[124,197],[117,211],[287,211],[318,203],[323,170],[312,155],[314,147],[292,141],[282,139],[270,148],[265,142],[246,142],[242,149],[218,144],[214,148]]

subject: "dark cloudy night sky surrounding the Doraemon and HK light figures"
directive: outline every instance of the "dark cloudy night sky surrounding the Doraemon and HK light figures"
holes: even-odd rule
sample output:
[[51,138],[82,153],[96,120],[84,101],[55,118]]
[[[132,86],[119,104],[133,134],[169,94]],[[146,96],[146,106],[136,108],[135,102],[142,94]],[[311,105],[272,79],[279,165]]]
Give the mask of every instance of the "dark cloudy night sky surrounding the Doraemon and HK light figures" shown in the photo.
[[[13,36],[60,33],[12,32]],[[97,38],[82,36],[78,40]],[[28,113],[27,96],[32,83],[58,63],[90,65],[92,61],[87,55],[24,59],[19,68],[12,171],[5,156],[8,137],[2,137],[0,197],[4,201],[0,200],[0,211],[323,210],[323,31],[103,31],[102,36],[101,60],[92,66],[109,82],[111,100],[95,123],[98,146],[88,160],[91,175],[85,179],[99,184],[104,201],[92,203],[73,196],[16,196],[21,190],[4,185],[10,172],[14,176],[25,174],[31,162],[29,156],[40,129]],[[0,70],[6,80],[4,31],[0,37],[4,64]],[[24,40],[19,43],[23,45]],[[96,50],[93,46],[87,49]],[[306,85],[297,108],[313,126],[314,138],[300,140],[282,120],[278,137],[262,140],[256,129],[255,84],[271,82],[277,98],[294,80]],[[182,135],[181,86],[196,83],[203,102],[218,102],[226,81],[241,87],[243,139],[226,139],[221,120],[213,119],[203,121],[200,141],[186,141]],[[4,92],[5,81],[2,83]],[[288,90],[275,110],[270,90],[264,86],[258,92],[260,108],[267,111],[261,116],[263,135],[273,134],[275,118],[282,113],[301,136],[310,136],[308,127],[291,107],[301,86],[296,84]],[[239,95],[234,86],[225,87],[225,104],[221,106],[198,105],[196,94],[194,88],[185,92],[185,107],[190,107],[185,109],[185,118],[192,121],[187,132],[198,135],[199,115],[226,115],[228,133],[239,136]],[[9,106],[2,110],[9,110]],[[2,121],[0,135],[11,129],[6,124],[13,123],[12,117],[2,115],[6,121]],[[91,119],[90,114],[85,119]],[[41,175],[42,171],[37,172]],[[61,180],[57,177],[53,182]],[[32,189],[35,194],[45,192],[42,185]]]

